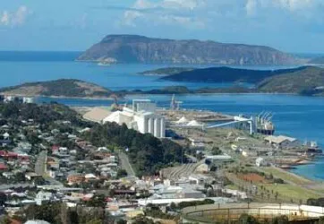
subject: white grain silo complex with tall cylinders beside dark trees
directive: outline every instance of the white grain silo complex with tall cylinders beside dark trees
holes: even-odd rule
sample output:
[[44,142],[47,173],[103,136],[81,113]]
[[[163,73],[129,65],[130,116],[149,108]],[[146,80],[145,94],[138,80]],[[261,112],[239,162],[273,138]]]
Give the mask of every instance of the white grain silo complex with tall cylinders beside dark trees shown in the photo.
[[149,99],[134,99],[132,108],[124,107],[103,119],[103,123],[115,122],[118,125],[127,125],[128,128],[139,131],[141,134],[152,134],[157,138],[166,137],[166,119],[155,113],[156,103]]

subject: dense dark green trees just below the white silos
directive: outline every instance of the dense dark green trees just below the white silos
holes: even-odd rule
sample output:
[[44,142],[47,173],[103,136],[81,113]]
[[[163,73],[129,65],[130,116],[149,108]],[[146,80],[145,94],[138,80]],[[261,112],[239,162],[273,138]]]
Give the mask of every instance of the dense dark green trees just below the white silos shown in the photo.
[[121,150],[128,148],[128,157],[139,177],[152,175],[182,159],[183,150],[179,144],[167,139],[159,140],[151,134],[141,134],[126,125],[95,125],[84,137],[98,147],[116,145]]

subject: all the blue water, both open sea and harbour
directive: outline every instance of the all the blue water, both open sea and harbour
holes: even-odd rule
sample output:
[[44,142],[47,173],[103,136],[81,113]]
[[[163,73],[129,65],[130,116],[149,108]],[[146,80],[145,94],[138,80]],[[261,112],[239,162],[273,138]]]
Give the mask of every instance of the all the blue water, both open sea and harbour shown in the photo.
[[[81,79],[98,83],[111,90],[150,90],[168,85],[185,85],[189,88],[219,86],[210,83],[159,82],[157,77],[139,75],[139,72],[167,65],[111,65],[74,62],[78,52],[0,52],[0,87],[55,80]],[[275,67],[249,67],[275,69]],[[223,86],[228,85],[224,83]],[[169,107],[170,95],[127,96],[121,103],[132,99],[152,99],[160,107]],[[317,141],[324,147],[324,98],[271,94],[200,94],[179,95],[183,108],[208,109],[231,115],[256,115],[261,111],[274,113],[277,134],[287,134],[304,140]],[[38,98],[38,102],[57,101],[71,106],[108,106],[104,99],[51,99]],[[294,173],[324,181],[324,159],[300,166]]]

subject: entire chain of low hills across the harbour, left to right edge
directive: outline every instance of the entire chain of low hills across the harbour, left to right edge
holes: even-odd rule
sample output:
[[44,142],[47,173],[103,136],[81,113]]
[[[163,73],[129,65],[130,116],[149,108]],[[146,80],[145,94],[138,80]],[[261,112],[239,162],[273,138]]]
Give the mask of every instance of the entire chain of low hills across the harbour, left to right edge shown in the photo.
[[[167,71],[165,69],[165,71]],[[171,72],[174,72],[170,70]],[[179,69],[182,71],[182,69]],[[231,82],[229,87],[205,87],[190,90],[185,86],[166,86],[158,90],[112,91],[97,84],[75,79],[48,82],[29,82],[0,89],[1,94],[15,96],[48,96],[65,98],[110,98],[132,94],[200,94],[200,93],[287,93],[307,96],[324,96],[324,69],[303,66],[280,70],[249,70],[229,67],[193,69],[167,75],[160,80],[177,82]],[[248,88],[240,84],[252,85]]]

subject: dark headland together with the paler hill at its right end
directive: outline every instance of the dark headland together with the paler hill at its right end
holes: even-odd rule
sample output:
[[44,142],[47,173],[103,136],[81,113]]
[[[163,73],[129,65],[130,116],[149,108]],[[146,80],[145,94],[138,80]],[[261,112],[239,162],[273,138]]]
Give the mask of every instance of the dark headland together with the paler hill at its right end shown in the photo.
[[161,79],[177,82],[248,82],[255,87],[250,90],[244,88],[231,90],[324,95],[324,69],[315,66],[273,71],[211,67],[176,73]]

